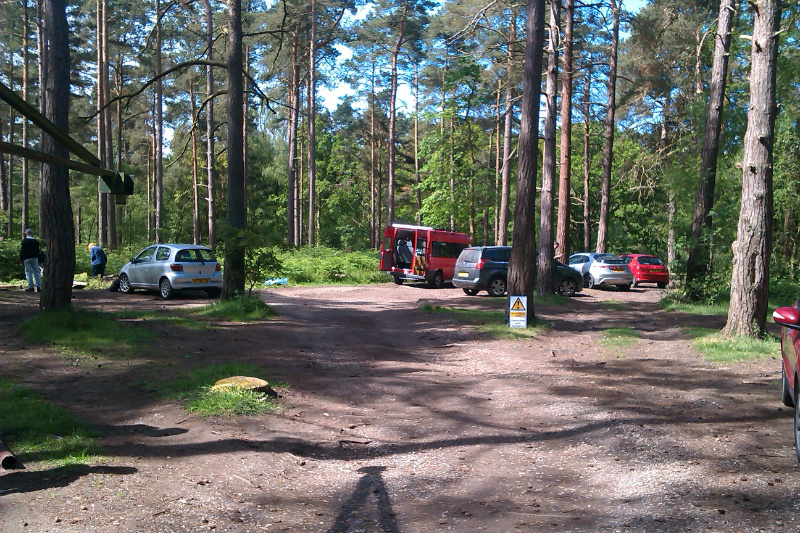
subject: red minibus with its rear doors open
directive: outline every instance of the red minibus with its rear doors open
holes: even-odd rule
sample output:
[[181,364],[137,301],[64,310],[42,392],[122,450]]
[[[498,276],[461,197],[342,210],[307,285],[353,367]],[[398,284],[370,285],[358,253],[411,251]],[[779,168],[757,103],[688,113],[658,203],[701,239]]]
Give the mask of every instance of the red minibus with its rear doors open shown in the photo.
[[383,233],[380,269],[398,285],[405,280],[427,281],[438,289],[453,279],[458,254],[469,245],[466,233],[392,224]]

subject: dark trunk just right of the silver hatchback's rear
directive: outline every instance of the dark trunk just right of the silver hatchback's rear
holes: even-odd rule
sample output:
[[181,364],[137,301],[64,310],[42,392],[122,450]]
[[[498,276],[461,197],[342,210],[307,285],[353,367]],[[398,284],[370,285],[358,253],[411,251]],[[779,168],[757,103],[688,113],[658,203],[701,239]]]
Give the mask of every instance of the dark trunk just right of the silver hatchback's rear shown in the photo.
[[242,5],[228,0],[228,186],[225,273],[222,298],[244,294],[244,229],[247,227],[244,196],[244,102],[242,83]]

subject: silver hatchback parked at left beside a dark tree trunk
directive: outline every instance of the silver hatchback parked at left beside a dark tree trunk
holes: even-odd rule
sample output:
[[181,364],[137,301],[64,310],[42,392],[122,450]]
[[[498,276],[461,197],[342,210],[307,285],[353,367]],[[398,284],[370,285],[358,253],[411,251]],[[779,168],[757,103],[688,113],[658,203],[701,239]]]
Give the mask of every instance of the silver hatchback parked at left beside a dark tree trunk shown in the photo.
[[119,271],[119,290],[152,289],[165,300],[175,291],[201,289],[216,298],[222,292],[222,269],[214,252],[194,244],[154,244]]

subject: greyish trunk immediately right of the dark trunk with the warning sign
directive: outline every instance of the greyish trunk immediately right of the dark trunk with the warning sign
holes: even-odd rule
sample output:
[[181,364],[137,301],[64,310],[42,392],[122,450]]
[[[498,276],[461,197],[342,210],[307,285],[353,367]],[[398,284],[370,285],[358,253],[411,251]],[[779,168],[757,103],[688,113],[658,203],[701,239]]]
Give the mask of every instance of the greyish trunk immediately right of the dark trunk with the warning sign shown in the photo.
[[544,152],[542,193],[539,198],[539,271],[536,289],[540,296],[552,294],[553,287],[553,186],[556,181],[556,92],[558,90],[559,3],[550,0],[547,39],[547,80],[545,82]]

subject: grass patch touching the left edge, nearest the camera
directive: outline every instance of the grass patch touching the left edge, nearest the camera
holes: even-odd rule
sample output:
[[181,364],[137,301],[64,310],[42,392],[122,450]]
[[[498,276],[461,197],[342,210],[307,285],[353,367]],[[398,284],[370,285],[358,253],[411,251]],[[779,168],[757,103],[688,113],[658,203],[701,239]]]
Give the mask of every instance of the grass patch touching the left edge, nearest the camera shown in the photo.
[[70,466],[103,459],[88,424],[7,380],[0,380],[0,428],[23,463]]

